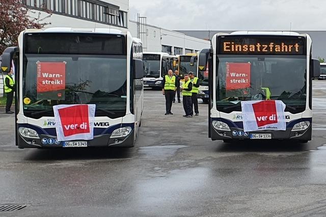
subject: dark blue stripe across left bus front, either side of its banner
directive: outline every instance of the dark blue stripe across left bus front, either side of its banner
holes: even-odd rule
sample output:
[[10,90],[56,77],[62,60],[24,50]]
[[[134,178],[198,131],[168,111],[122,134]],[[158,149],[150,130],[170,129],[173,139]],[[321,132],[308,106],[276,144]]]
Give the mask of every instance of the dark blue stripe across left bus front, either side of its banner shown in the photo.
[[[40,128],[35,125],[30,125],[28,123],[18,123],[17,127],[25,127],[35,130],[40,135],[50,135],[50,136],[57,136],[56,128]],[[134,123],[119,123],[118,125],[113,125],[108,128],[94,128],[94,136],[104,135],[104,134],[112,134],[112,132],[118,128],[122,127],[131,127],[134,129]]]

